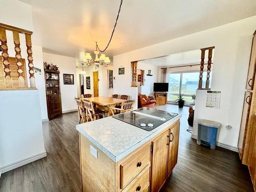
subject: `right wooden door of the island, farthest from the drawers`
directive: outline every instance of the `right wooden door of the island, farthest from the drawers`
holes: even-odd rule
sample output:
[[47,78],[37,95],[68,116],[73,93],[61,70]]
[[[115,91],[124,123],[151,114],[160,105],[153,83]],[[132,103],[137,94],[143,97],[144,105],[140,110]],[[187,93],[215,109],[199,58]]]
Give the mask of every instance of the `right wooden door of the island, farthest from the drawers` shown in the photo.
[[180,122],[174,124],[169,129],[169,151],[168,151],[168,165],[167,165],[167,177],[172,173],[173,168],[177,164],[178,160],[178,147],[179,147],[179,135],[180,135]]

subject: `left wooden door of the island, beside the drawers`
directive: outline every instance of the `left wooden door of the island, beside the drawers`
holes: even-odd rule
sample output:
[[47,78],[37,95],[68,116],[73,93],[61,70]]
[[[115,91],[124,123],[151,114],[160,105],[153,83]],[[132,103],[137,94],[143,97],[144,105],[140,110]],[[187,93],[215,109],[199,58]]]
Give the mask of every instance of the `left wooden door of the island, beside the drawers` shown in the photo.
[[151,160],[151,191],[158,191],[166,179],[166,165],[168,156],[169,130],[152,141],[153,154]]

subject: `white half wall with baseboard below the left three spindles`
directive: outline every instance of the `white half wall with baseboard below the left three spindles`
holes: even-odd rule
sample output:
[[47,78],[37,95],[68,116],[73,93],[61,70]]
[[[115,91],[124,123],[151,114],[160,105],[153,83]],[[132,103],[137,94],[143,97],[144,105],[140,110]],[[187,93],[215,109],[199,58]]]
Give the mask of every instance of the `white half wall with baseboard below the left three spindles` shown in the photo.
[[0,91],[0,175],[46,156],[38,90]]

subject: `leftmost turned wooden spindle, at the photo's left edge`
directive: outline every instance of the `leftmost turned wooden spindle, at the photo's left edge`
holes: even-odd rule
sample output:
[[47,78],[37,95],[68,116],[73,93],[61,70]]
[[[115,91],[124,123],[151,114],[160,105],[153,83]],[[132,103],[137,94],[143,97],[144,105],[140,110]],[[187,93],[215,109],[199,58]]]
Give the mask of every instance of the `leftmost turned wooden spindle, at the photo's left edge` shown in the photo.
[[10,63],[9,63],[6,31],[5,31],[5,28],[3,27],[0,27],[0,41],[1,41],[4,72],[5,72],[5,86],[6,88],[12,88],[12,77],[11,77],[11,70],[10,70]]

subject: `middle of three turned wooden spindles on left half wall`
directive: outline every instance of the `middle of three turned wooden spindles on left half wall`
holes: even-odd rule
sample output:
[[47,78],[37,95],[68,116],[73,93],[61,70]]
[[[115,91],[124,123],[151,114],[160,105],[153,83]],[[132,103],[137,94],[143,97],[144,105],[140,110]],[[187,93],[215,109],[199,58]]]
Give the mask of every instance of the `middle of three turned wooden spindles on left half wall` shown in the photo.
[[20,42],[19,42],[19,33],[18,31],[13,31],[13,42],[15,45],[15,57],[16,57],[16,65],[17,65],[17,73],[18,73],[18,87],[24,88],[25,87],[25,80],[24,80],[24,72],[22,70],[22,56],[20,55]]

